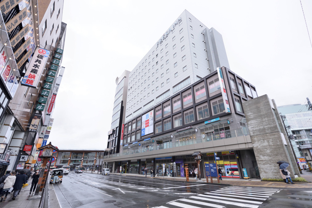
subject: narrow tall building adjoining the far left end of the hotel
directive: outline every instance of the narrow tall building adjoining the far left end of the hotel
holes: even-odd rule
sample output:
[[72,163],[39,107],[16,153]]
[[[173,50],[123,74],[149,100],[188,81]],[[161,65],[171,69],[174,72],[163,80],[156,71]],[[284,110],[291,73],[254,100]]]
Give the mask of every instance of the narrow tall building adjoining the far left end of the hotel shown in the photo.
[[[113,107],[112,123],[108,132],[106,154],[119,153],[122,145],[121,134],[123,134],[125,102],[127,100],[127,90],[129,81],[129,71],[125,70],[120,77],[116,78],[116,90]],[[118,139],[119,138],[119,139]]]

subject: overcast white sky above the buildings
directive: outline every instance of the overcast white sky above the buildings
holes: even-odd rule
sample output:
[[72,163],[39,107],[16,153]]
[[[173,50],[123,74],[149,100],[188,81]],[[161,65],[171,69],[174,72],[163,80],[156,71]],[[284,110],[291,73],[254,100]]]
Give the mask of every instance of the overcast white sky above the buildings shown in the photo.
[[[312,1],[301,2],[312,38]],[[222,34],[231,70],[259,96],[278,106],[312,100],[312,47],[300,0],[65,0],[66,69],[49,141],[106,148],[116,77],[133,70],[185,9]]]

